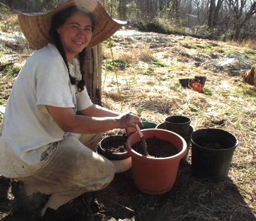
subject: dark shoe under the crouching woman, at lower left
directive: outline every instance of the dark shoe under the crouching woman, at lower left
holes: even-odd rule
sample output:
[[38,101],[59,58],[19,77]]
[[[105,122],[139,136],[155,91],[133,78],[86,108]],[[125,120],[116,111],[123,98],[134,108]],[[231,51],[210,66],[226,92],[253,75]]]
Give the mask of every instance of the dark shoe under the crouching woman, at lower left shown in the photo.
[[26,188],[22,181],[12,181],[12,194],[16,200],[17,208],[31,214],[40,214],[50,195],[35,192],[26,194]]

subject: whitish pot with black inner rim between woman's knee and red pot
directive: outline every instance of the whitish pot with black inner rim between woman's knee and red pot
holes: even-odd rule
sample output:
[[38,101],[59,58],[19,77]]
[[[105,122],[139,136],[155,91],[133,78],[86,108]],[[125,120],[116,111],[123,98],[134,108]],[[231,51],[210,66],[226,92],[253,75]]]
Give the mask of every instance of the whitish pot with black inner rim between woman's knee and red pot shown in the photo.
[[110,149],[108,149],[108,147],[111,145],[126,146],[126,141],[127,137],[113,135],[102,139],[95,148],[96,153],[105,156],[115,165],[116,173],[125,172],[129,170],[132,167],[132,158],[129,155],[128,151],[125,151],[124,153],[112,153]]

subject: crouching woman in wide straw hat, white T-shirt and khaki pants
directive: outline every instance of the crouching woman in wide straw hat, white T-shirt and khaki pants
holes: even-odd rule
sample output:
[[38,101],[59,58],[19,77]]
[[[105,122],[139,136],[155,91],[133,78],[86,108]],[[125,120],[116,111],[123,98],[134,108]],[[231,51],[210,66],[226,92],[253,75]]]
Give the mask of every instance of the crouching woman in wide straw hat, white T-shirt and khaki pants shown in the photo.
[[115,166],[93,151],[102,132],[124,128],[130,135],[142,126],[132,112],[93,104],[84,88],[86,49],[122,24],[96,0],[59,5],[44,15],[19,15],[24,36],[38,50],[13,84],[0,136],[0,173],[19,181],[12,185],[18,204],[42,216],[47,207],[57,210],[112,181]]

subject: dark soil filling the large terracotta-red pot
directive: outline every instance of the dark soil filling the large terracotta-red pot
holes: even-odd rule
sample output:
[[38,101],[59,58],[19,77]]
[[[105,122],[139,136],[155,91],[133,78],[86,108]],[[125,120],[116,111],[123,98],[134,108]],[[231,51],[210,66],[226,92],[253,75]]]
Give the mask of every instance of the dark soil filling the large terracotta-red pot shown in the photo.
[[[175,148],[175,146],[173,146],[173,144],[171,144],[168,141],[164,141],[157,138],[150,138],[146,139],[146,143],[148,154],[151,156],[155,156],[156,158],[174,156],[177,155],[177,153],[179,153],[177,148]],[[141,155],[143,153],[140,141],[132,145],[132,149],[134,149],[134,151],[140,153]]]

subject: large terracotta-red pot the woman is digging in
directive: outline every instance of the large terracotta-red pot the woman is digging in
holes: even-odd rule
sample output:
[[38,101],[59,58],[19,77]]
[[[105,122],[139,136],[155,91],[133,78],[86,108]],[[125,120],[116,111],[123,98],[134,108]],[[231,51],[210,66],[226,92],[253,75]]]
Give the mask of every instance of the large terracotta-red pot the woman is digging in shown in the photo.
[[132,145],[140,142],[138,133],[132,133],[127,139],[126,149],[132,156],[132,177],[136,187],[146,194],[159,195],[172,189],[179,169],[180,159],[186,155],[186,141],[177,133],[161,129],[145,129],[143,135],[147,139],[157,138],[168,141],[179,153],[165,158],[143,156],[132,149]]

